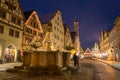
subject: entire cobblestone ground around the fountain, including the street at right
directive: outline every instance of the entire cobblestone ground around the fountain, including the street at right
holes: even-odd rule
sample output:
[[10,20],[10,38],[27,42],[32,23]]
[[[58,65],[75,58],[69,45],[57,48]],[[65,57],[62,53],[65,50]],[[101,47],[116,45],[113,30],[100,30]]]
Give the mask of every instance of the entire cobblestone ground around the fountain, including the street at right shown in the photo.
[[[0,64],[0,69],[14,68],[22,63]],[[73,62],[71,62],[73,66]],[[25,73],[0,72],[0,80],[120,80],[120,71],[98,60],[80,60],[80,69],[67,75],[34,75]]]

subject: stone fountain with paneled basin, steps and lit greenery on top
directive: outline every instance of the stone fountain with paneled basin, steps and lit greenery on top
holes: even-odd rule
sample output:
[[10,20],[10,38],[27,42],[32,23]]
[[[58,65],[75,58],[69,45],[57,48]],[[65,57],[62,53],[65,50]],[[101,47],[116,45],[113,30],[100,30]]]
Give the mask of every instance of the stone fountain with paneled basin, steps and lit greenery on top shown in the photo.
[[23,64],[8,69],[8,72],[39,73],[39,74],[64,74],[62,68],[69,66],[70,54],[60,50],[51,49],[51,41],[47,41],[47,47],[39,51],[42,43],[39,38],[34,38],[29,46],[23,51]]

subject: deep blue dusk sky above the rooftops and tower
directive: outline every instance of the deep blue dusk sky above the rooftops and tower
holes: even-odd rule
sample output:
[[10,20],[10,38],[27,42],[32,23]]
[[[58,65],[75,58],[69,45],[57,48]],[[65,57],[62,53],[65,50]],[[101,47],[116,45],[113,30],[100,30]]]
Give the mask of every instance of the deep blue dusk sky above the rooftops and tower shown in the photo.
[[73,30],[75,16],[79,21],[81,46],[92,48],[102,30],[110,30],[120,13],[120,0],[20,0],[23,11],[34,9],[39,16],[60,10],[63,23]]

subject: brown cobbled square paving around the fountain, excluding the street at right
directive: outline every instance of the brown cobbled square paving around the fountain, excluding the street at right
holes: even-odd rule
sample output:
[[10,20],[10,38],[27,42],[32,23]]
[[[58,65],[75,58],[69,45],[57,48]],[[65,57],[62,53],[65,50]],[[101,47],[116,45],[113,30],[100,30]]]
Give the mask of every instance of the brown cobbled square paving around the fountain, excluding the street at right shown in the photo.
[[[6,64],[9,68],[21,63]],[[3,67],[5,68],[6,65]],[[1,65],[0,65],[1,66]],[[8,68],[8,67],[6,67]],[[80,69],[74,69],[66,75],[35,75],[26,73],[9,73],[6,71],[0,72],[0,80],[92,80],[93,69],[80,66]]]

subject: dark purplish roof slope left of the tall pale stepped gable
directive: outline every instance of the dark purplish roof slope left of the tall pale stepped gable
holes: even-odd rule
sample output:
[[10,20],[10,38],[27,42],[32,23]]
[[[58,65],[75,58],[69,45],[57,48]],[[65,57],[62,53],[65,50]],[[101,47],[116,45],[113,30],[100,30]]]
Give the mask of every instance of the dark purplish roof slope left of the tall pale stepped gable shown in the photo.
[[48,23],[48,22],[55,16],[55,14],[56,14],[57,12],[58,12],[58,10],[55,11],[55,12],[53,12],[53,13],[40,16],[40,21],[41,21],[41,23],[42,23],[42,24]]

